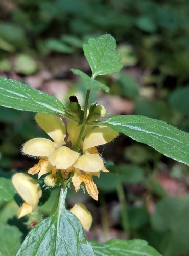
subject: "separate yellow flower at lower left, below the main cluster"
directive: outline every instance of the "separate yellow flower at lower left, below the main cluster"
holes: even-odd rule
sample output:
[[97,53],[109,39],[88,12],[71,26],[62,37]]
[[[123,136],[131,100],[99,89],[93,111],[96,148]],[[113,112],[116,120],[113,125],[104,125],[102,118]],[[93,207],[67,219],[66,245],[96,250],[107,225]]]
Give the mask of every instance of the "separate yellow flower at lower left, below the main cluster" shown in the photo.
[[13,175],[12,183],[17,193],[25,201],[19,209],[18,218],[31,214],[36,210],[39,198],[42,195],[40,185],[32,177],[24,173]]

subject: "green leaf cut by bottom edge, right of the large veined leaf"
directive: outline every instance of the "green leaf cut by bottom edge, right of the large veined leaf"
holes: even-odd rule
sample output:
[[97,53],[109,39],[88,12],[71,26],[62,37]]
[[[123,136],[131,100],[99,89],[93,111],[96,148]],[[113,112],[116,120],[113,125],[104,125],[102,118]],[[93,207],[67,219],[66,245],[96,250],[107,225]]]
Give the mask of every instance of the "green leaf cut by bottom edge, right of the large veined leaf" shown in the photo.
[[96,241],[91,241],[95,254],[98,256],[134,256],[134,255],[144,255],[144,256],[160,256],[161,254],[157,252],[153,247],[149,246],[144,240],[133,239],[133,240],[119,240],[111,239],[105,244],[99,244]]

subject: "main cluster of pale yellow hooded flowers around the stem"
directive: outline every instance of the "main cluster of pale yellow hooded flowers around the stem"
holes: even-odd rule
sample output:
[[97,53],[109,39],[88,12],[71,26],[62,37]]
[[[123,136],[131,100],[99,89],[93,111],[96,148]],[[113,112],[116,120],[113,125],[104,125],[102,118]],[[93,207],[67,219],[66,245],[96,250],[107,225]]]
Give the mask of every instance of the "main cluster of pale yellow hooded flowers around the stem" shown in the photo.
[[[39,162],[29,169],[29,174],[38,173],[38,178],[50,173],[56,180],[57,173],[68,178],[72,174],[72,183],[76,192],[84,182],[88,194],[98,200],[98,190],[93,182],[93,175],[100,176],[100,172],[108,172],[96,146],[112,141],[118,132],[105,126],[87,126],[79,146],[79,152],[74,151],[81,125],[74,120],[67,124],[68,139],[66,146],[66,126],[63,120],[55,114],[38,113],[35,116],[38,125],[51,137],[34,138],[27,141],[22,148],[24,154],[39,157]],[[55,182],[54,182],[55,183]],[[52,182],[52,185],[54,184]],[[48,184],[46,184],[48,185]]]

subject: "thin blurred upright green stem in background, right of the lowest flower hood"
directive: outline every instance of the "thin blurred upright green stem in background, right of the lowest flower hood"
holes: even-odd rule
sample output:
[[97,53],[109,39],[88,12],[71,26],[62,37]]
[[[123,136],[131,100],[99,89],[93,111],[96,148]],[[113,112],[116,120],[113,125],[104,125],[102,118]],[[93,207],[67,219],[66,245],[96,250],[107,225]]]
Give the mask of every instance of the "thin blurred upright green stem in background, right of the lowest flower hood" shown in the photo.
[[130,228],[129,228],[129,221],[128,221],[128,215],[127,215],[127,204],[126,204],[124,189],[121,183],[117,184],[117,195],[120,201],[120,213],[121,213],[123,229],[127,239],[129,239]]

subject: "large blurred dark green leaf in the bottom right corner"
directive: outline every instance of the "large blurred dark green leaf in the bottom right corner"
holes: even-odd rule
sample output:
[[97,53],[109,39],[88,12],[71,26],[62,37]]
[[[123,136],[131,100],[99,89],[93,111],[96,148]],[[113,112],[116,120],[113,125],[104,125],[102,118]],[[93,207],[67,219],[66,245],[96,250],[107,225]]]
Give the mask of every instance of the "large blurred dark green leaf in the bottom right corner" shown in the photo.
[[[153,229],[161,234],[161,251],[166,256],[179,256],[189,250],[189,196],[165,197],[151,215]],[[164,233],[163,233],[164,232]]]

